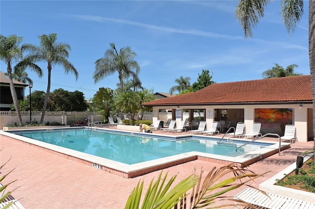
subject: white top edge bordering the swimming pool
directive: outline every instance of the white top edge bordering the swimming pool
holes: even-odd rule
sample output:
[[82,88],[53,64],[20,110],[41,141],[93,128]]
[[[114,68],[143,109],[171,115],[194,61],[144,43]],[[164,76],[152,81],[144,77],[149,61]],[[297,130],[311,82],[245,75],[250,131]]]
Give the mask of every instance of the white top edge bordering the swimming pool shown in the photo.
[[[69,129],[69,128],[64,128],[64,129]],[[45,129],[42,129],[42,130],[45,130]],[[106,129],[104,129],[104,130],[109,131]],[[19,130],[19,131],[23,131],[23,130]],[[30,131],[30,130],[26,130],[26,131]],[[110,130],[110,131],[115,132],[115,130]],[[130,133],[130,131],[122,131],[122,130],[118,130],[117,132]],[[109,169],[117,170],[117,171],[120,171],[120,172],[123,172],[126,174],[135,173],[135,172],[145,170],[145,169],[155,170],[155,168],[156,168],[156,170],[159,170],[158,167],[161,167],[162,165],[165,165],[165,164],[171,165],[172,162],[174,162],[174,165],[175,165],[175,164],[180,164],[179,163],[180,161],[187,162],[187,161],[191,161],[191,160],[197,159],[197,158],[200,159],[202,157],[214,159],[215,160],[214,162],[217,162],[217,163],[220,163],[221,161],[226,161],[226,162],[236,162],[236,163],[245,163],[246,164],[246,162],[249,162],[249,160],[251,160],[251,159],[254,159],[254,158],[262,159],[262,158],[264,158],[263,156],[266,155],[266,153],[276,152],[279,149],[279,146],[277,143],[263,141],[263,143],[273,143],[273,145],[268,146],[266,148],[262,148],[260,150],[252,151],[250,153],[247,153],[247,154],[244,154],[244,155],[241,155],[238,157],[226,157],[225,156],[224,159],[222,159],[222,156],[220,156],[220,155],[207,154],[207,153],[201,153],[201,152],[193,151],[193,152],[183,153],[183,154],[179,154],[179,155],[175,155],[175,156],[163,157],[160,159],[154,159],[154,160],[150,160],[150,161],[146,161],[146,162],[140,162],[140,163],[128,165],[128,164],[125,164],[122,162],[117,162],[117,161],[106,159],[103,157],[97,157],[97,156],[93,156],[90,154],[85,154],[85,153],[82,153],[79,151],[74,151],[74,150],[71,150],[68,148],[63,148],[63,147],[60,147],[57,145],[53,145],[53,144],[38,141],[35,139],[31,139],[28,137],[20,136],[20,135],[13,134],[13,133],[10,133],[7,131],[0,131],[0,135],[6,135],[8,137],[22,141],[24,143],[29,143],[29,144],[32,144],[34,146],[42,147],[44,149],[48,149],[48,150],[51,150],[51,151],[54,151],[57,153],[61,153],[61,154],[66,155],[66,156],[70,156],[73,158],[79,158],[79,159],[82,159],[84,161],[91,162],[91,166],[105,170],[105,171],[107,170],[106,168],[109,168]],[[165,137],[165,135],[162,135],[162,134],[155,134],[155,135]],[[186,134],[186,135],[190,135],[190,134]],[[181,135],[181,136],[183,136],[183,135]],[[173,137],[173,136],[170,136],[170,137]],[[178,135],[176,137],[178,137]],[[176,137],[174,137],[174,138],[176,138]],[[209,137],[209,138],[211,138],[211,137]],[[243,141],[243,139],[242,139],[242,141]],[[244,141],[246,141],[246,140],[244,140]],[[257,141],[259,141],[259,140],[257,140]],[[289,144],[289,143],[283,143],[282,146],[287,146],[287,144]],[[105,167],[105,168],[103,168],[103,167]]]

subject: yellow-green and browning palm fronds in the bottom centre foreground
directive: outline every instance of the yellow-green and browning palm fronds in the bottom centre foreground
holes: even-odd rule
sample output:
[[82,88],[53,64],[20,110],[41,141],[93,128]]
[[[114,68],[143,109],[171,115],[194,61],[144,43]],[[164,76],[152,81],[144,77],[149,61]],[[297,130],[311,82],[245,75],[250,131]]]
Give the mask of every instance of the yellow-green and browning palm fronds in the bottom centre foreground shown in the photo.
[[[145,194],[141,209],[197,209],[197,208],[222,208],[227,206],[252,207],[252,205],[233,199],[231,196],[225,196],[225,193],[236,189],[242,185],[247,185],[249,181],[263,176],[263,174],[255,174],[245,168],[246,165],[231,163],[216,170],[214,167],[205,177],[202,182],[203,170],[200,175],[190,175],[186,179],[172,186],[177,175],[173,176],[166,183],[167,175],[161,179],[162,172],[159,174],[158,180],[154,183],[151,181],[148,190]],[[228,174],[233,174],[233,177],[224,177]],[[267,173],[267,172],[266,172]],[[221,180],[224,179],[224,180]],[[125,209],[138,209],[143,190],[143,181],[131,192]],[[165,185],[164,185],[165,184]],[[251,186],[252,187],[252,186]],[[190,190],[190,193],[188,193]],[[263,191],[261,191],[263,192]],[[263,192],[266,194],[265,192]],[[189,196],[190,195],[190,196]],[[189,199],[187,199],[189,197]],[[220,205],[222,201],[222,204]],[[228,204],[228,202],[232,202]],[[216,206],[211,207],[211,205]]]

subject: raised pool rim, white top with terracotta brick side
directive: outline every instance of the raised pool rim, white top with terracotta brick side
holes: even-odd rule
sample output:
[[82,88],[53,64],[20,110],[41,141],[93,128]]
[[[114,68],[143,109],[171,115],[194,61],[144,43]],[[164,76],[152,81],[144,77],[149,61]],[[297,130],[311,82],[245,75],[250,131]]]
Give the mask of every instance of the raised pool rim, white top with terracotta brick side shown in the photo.
[[[75,127],[75,128],[58,128],[58,129],[82,129],[81,127]],[[84,128],[87,129],[87,128]],[[95,130],[99,131],[109,131],[109,132],[118,132],[118,133],[129,133],[132,135],[140,135],[140,136],[158,136],[161,138],[168,138],[168,139],[176,139],[176,140],[181,140],[181,138],[185,138],[188,136],[194,136],[196,137],[195,134],[182,134],[182,135],[164,135],[164,134],[157,134],[157,133],[140,133],[140,132],[133,132],[133,131],[124,131],[124,130],[109,130],[109,129],[104,129],[104,128],[94,128]],[[36,130],[49,130],[51,129],[36,129]],[[24,130],[18,130],[18,131],[24,131]],[[30,131],[30,130],[25,130],[25,131]],[[10,132],[15,132],[15,131],[10,131]],[[222,165],[228,165],[232,162],[238,163],[241,166],[245,165],[251,165],[252,163],[259,161],[260,159],[269,157],[271,155],[274,155],[279,152],[279,145],[278,143],[271,142],[271,141],[259,141],[257,140],[256,142],[261,142],[261,143],[270,143],[273,144],[271,146],[262,148],[260,150],[252,151],[250,153],[238,156],[238,157],[224,157],[222,159],[222,156],[220,155],[215,155],[215,154],[207,154],[207,153],[201,153],[201,152],[188,152],[188,153],[183,153],[175,156],[170,156],[170,157],[163,157],[160,159],[154,159],[146,162],[140,162],[140,163],[135,163],[135,164],[125,164],[122,162],[117,162],[114,160],[102,158],[102,157],[97,157],[93,156],[90,154],[85,154],[81,153],[79,151],[74,151],[68,148],[63,148],[59,147],[57,145],[53,144],[48,144],[46,142],[38,141],[35,139],[30,139],[28,137],[16,135],[13,133],[10,133],[8,131],[0,131],[1,136],[5,136],[7,138],[17,140],[20,142],[23,142],[24,144],[31,145],[31,146],[36,146],[39,149],[44,149],[48,152],[51,153],[56,153],[62,157],[65,157],[67,159],[72,159],[75,161],[82,162],[84,164],[90,165],[92,167],[95,167],[97,169],[104,170],[109,173],[113,173],[119,176],[123,176],[125,178],[133,178],[137,176],[141,176],[156,170],[164,169],[167,167],[171,167],[174,165],[178,165],[181,163],[189,162],[191,160],[204,160],[204,161],[209,161],[209,162],[214,162],[214,163],[219,163]],[[207,138],[219,138],[215,136],[199,136],[200,139],[207,139]],[[231,141],[239,140],[238,138],[232,138],[230,139]],[[242,141],[251,141],[252,139],[244,139],[242,138]],[[281,143],[281,150],[287,149],[290,147],[289,143],[282,142]]]

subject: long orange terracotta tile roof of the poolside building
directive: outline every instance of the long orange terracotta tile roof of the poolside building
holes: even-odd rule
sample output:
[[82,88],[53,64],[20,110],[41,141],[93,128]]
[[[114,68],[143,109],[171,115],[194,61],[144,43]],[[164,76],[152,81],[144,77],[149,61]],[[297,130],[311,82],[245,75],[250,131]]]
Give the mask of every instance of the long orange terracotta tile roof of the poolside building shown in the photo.
[[144,103],[157,105],[312,102],[311,76],[214,83],[199,91]]

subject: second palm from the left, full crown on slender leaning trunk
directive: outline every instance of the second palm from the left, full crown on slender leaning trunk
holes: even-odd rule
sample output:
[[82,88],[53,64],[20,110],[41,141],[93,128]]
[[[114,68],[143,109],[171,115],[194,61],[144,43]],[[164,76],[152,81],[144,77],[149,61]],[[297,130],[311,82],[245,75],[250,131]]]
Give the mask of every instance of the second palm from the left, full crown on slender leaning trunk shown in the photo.
[[54,64],[62,65],[65,73],[72,73],[75,75],[76,80],[79,77],[79,73],[76,68],[67,60],[69,57],[69,51],[71,50],[70,45],[65,43],[57,42],[57,33],[50,33],[48,35],[42,34],[39,36],[40,46],[34,46],[32,44],[24,44],[22,46],[23,50],[30,51],[26,58],[32,60],[32,62],[47,62],[48,69],[48,84],[47,91],[45,95],[43,110],[40,118],[40,123],[43,123],[45,112],[47,108],[50,84],[51,84],[51,70]]

